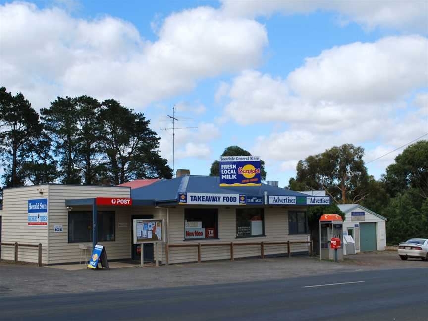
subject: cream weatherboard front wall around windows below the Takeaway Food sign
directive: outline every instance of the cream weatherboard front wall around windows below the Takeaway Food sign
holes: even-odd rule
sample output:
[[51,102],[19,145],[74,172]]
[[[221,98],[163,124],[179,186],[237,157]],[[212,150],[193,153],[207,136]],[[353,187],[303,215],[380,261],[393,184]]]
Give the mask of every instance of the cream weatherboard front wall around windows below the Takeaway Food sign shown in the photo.
[[[203,208],[203,207],[201,207]],[[184,240],[184,207],[177,206],[169,209],[169,243],[170,244],[206,244],[206,243],[251,243],[251,242],[279,242],[279,241],[307,241],[309,234],[289,235],[288,211],[303,210],[306,208],[266,207],[265,208],[265,235],[262,237],[236,238],[236,208],[218,208],[218,239]],[[279,255],[287,252],[287,245],[266,245],[265,255]],[[309,251],[306,244],[292,245],[292,252]],[[164,249],[163,249],[164,253]],[[234,257],[260,256],[259,245],[235,246]],[[228,246],[202,247],[202,260],[230,259]],[[192,262],[198,260],[197,247],[171,248],[170,263]]]

